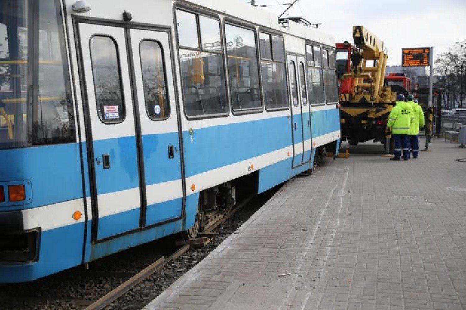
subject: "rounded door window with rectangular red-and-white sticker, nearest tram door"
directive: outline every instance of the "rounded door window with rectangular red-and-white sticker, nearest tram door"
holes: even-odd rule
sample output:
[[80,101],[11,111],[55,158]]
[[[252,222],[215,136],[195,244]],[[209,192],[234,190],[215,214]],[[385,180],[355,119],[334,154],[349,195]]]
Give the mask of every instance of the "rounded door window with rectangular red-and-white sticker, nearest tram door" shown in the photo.
[[116,42],[96,35],[90,40],[97,115],[104,124],[121,123],[126,111]]

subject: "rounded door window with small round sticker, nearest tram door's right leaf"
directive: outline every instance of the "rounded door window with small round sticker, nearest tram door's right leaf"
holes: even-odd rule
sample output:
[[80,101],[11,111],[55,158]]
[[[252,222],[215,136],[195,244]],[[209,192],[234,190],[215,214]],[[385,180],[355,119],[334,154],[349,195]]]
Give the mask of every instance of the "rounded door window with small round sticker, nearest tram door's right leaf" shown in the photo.
[[167,119],[170,116],[170,105],[162,47],[156,41],[143,40],[139,44],[139,54],[147,115],[152,120]]

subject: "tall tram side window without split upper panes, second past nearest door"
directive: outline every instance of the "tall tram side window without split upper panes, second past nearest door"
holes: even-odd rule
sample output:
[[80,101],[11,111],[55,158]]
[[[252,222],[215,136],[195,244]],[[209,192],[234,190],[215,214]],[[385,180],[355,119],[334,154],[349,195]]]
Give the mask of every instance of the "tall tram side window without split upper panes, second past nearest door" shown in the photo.
[[262,106],[254,30],[225,25],[226,55],[233,110]]

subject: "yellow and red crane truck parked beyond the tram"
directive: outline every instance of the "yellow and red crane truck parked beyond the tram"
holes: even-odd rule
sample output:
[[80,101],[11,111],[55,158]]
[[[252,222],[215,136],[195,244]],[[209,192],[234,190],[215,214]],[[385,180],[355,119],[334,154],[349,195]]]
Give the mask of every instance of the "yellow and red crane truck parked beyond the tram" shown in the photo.
[[384,42],[366,27],[353,26],[353,40],[354,45],[336,44],[342,140],[357,145],[373,139],[392,153],[387,118],[397,93],[408,94],[405,87],[409,89],[410,81],[404,74],[385,76],[388,54]]

